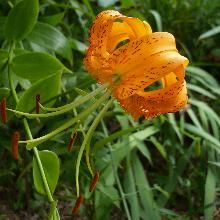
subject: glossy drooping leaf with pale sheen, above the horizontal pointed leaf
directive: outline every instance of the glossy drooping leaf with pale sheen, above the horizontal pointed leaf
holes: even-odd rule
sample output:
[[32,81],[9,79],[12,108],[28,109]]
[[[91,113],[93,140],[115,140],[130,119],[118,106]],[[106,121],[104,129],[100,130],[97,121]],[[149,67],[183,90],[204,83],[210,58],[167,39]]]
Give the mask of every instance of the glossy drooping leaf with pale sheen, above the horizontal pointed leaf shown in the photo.
[[73,55],[68,39],[55,27],[38,22],[28,39],[47,49],[57,52],[60,56],[68,59],[72,64]]

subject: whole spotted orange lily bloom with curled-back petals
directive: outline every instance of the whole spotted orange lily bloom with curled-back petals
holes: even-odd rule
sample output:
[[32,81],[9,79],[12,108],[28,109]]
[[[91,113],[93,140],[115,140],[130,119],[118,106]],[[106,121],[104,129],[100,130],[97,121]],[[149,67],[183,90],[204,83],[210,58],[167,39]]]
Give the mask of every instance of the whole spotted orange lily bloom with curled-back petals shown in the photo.
[[[152,33],[148,23],[108,10],[97,15],[89,44],[84,59],[88,72],[99,83],[110,83],[113,95],[135,119],[186,105],[188,59],[178,53],[172,34]],[[156,82],[161,88],[149,91]]]

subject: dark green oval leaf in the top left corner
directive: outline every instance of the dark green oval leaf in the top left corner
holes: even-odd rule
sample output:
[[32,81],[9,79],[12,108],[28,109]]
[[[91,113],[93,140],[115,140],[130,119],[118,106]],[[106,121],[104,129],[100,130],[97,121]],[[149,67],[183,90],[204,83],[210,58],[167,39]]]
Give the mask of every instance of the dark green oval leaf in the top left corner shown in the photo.
[[23,0],[9,12],[5,22],[5,37],[8,41],[24,39],[37,22],[38,0]]

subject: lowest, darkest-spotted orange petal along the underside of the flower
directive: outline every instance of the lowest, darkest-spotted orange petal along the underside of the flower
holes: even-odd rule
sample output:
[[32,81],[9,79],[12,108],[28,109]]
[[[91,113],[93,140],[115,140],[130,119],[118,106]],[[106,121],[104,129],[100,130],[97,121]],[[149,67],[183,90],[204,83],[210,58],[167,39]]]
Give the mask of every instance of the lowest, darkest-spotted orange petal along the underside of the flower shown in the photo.
[[162,92],[160,96],[158,98],[157,94],[149,99],[145,94],[135,94],[119,101],[136,120],[141,116],[149,119],[160,114],[177,112],[186,105],[188,100],[185,81],[176,95],[162,97]]

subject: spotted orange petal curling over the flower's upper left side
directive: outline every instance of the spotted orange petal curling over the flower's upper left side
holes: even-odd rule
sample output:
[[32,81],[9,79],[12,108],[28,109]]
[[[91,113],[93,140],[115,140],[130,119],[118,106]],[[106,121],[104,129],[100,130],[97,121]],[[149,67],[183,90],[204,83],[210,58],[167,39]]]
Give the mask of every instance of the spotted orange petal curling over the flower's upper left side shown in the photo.
[[[90,29],[90,46],[84,59],[87,69],[98,78],[98,74],[102,73],[102,66],[104,69],[106,68],[106,61],[109,60],[110,54],[121,41],[126,39],[133,41],[137,36],[141,37],[150,33],[149,24],[143,23],[137,18],[126,17],[117,11],[101,12]],[[110,69],[114,70],[114,65],[109,64]],[[109,67],[107,68],[109,69]],[[112,74],[114,73],[112,72]]]

